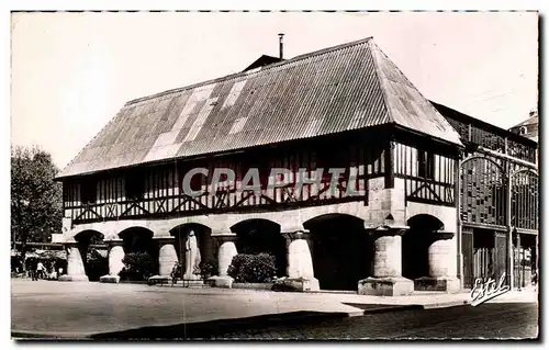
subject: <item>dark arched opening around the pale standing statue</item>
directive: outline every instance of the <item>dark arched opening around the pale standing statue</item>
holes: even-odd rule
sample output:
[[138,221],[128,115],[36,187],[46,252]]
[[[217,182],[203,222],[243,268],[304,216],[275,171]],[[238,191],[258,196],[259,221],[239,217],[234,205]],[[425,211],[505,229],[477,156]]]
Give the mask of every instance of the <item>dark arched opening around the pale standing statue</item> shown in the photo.
[[170,229],[170,235],[176,238],[175,246],[178,261],[181,264],[180,275],[183,276],[187,266],[187,250],[189,233],[193,232],[197,246],[200,251],[198,271],[202,275],[214,275],[217,273],[217,242],[212,238],[212,229],[201,224],[182,224]]

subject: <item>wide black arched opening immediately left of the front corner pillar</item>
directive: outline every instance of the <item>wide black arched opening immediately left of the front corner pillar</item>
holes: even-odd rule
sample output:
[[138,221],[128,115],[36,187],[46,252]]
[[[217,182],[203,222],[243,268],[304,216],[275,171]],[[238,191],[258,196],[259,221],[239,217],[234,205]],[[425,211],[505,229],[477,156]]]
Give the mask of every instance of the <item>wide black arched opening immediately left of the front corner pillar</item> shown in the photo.
[[313,269],[322,290],[356,291],[358,281],[372,275],[373,239],[361,218],[328,214],[303,226],[312,234]]

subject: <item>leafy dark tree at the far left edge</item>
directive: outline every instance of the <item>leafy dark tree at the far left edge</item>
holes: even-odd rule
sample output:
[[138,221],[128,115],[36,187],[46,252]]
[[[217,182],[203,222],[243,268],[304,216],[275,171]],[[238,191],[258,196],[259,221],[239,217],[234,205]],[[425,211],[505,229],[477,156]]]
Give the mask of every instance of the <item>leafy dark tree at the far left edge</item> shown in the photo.
[[47,241],[61,229],[63,189],[54,181],[58,171],[40,148],[11,149],[11,230],[13,245],[21,242],[21,256],[27,241]]

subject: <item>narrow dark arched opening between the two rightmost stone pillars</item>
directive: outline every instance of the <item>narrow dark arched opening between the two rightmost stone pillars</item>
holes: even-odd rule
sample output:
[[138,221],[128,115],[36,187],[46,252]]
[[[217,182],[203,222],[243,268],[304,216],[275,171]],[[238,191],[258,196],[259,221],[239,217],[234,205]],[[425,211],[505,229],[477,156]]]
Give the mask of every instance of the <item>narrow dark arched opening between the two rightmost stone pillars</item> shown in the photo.
[[402,237],[402,275],[410,280],[429,275],[428,249],[433,233],[444,228],[433,215],[418,214],[407,221],[410,229]]

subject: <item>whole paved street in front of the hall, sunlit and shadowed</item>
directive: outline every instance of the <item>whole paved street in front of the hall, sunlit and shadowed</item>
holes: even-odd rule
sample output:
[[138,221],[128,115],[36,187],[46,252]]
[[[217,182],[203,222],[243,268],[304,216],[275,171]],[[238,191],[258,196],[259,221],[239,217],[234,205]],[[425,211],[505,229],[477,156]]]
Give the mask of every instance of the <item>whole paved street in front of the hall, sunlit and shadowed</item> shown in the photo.
[[[376,297],[12,280],[12,335],[181,339],[534,337],[536,295],[518,296],[509,293],[477,307],[424,311],[419,308],[444,306],[448,301],[457,305],[467,295]],[[370,314],[391,304],[418,307]],[[367,316],[348,317],[363,315],[365,311]]]

